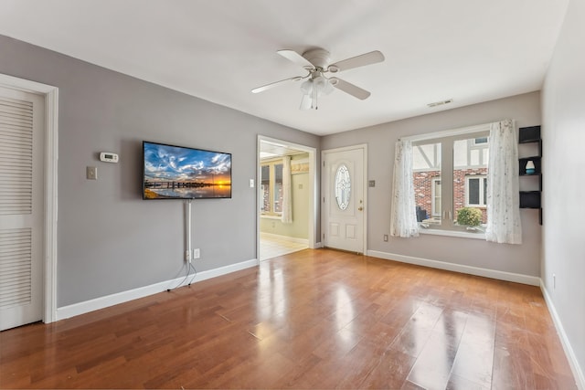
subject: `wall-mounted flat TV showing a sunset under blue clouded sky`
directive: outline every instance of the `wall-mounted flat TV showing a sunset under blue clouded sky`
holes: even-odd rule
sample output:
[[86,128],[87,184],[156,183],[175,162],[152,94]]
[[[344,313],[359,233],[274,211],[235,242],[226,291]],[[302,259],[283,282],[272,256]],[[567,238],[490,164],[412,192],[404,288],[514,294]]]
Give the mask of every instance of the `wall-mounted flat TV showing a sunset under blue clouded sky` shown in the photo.
[[231,197],[231,153],[143,142],[143,199]]

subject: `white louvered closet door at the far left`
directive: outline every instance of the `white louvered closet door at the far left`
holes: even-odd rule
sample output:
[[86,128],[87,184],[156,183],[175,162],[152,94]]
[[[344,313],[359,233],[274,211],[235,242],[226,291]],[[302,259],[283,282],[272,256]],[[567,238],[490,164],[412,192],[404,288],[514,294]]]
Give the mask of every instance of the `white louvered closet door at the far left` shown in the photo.
[[43,103],[0,89],[0,330],[42,319]]

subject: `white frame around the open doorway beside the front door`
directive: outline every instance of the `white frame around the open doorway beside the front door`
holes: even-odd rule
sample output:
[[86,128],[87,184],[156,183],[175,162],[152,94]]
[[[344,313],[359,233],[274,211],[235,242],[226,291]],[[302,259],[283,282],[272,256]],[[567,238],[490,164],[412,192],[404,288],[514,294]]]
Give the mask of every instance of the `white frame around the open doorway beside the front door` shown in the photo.
[[317,185],[317,175],[315,173],[315,167],[317,166],[317,149],[311,146],[302,145],[299,143],[288,142],[284,140],[279,140],[276,138],[267,137],[264,135],[258,135],[258,143],[257,143],[257,150],[256,150],[256,259],[258,260],[258,264],[260,264],[260,210],[261,210],[261,187],[260,187],[260,178],[261,178],[261,161],[260,161],[260,152],[261,152],[261,142],[271,142],[281,144],[286,147],[290,147],[292,149],[296,149],[299,151],[303,151],[309,153],[309,227],[307,238],[309,241],[309,248],[318,248],[318,245],[315,243],[315,234],[317,231],[317,206],[318,203],[318,194],[317,189],[319,185]]

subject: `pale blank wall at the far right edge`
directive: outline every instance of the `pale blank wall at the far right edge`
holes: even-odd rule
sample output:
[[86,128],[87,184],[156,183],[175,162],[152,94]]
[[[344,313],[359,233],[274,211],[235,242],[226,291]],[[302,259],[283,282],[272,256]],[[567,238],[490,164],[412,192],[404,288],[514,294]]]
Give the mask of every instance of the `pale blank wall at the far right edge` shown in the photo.
[[[542,279],[585,386],[585,1],[571,0],[542,92]],[[553,281],[556,276],[556,283]]]

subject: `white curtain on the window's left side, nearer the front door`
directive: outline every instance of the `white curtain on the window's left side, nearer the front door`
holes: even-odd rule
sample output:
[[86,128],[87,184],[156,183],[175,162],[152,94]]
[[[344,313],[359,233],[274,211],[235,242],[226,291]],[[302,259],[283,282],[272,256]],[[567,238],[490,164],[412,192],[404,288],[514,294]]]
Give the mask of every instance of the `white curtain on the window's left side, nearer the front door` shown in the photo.
[[390,236],[419,236],[416,206],[412,182],[412,142],[399,140],[394,160]]

